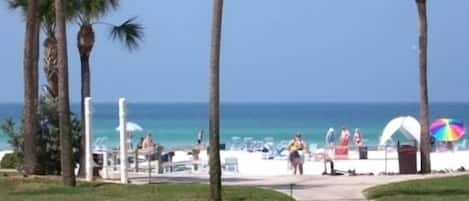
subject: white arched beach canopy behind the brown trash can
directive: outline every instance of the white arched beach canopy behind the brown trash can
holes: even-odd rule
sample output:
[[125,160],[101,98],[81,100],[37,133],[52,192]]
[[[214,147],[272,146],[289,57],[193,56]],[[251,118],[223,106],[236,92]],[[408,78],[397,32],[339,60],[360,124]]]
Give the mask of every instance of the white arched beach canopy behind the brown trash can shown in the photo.
[[415,140],[417,144],[420,144],[420,123],[412,116],[401,116],[394,118],[384,127],[379,145],[385,145],[386,141],[398,131],[404,134],[407,139]]

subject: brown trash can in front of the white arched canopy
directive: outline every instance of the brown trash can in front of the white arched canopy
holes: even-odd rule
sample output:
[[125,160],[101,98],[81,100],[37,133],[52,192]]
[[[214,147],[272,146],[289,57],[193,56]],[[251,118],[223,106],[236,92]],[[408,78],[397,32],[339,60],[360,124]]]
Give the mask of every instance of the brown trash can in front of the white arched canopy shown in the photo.
[[398,145],[399,174],[417,174],[417,148]]

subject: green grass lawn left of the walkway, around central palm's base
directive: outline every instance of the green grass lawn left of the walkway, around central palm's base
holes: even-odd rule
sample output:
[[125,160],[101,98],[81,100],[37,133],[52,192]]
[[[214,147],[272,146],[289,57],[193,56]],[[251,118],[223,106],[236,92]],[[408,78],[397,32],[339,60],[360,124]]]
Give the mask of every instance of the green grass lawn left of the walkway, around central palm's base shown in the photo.
[[[0,177],[1,201],[206,201],[208,185],[151,184],[121,185],[78,183],[74,188],[63,187],[57,179],[22,179]],[[223,200],[293,201],[275,191],[254,187],[226,186]]]

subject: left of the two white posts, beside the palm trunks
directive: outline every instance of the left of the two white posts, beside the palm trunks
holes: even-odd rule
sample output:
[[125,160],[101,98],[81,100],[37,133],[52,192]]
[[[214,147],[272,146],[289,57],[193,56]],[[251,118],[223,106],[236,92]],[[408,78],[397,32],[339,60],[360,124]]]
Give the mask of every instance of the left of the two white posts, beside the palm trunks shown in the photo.
[[93,154],[91,153],[91,97],[85,98],[85,173],[86,181],[93,180]]

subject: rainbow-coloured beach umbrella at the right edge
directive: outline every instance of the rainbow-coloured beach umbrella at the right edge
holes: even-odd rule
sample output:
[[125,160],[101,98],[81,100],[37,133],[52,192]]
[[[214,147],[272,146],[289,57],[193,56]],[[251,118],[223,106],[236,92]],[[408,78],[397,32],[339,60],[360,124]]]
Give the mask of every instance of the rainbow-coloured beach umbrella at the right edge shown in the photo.
[[466,129],[462,121],[442,118],[432,123],[430,132],[437,141],[452,142],[461,138]]

